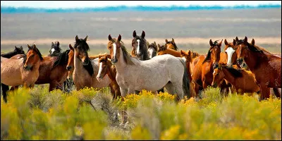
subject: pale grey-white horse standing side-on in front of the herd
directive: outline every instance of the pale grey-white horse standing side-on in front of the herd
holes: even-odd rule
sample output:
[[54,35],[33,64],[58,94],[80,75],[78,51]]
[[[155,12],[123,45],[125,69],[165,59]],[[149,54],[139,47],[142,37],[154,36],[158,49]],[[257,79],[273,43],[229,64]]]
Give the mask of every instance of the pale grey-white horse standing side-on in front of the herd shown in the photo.
[[166,87],[170,94],[176,93],[178,100],[183,99],[183,95],[190,97],[184,59],[166,54],[140,61],[128,54],[121,42],[121,35],[118,39],[112,39],[109,35],[108,49],[111,61],[116,65],[116,81],[122,97],[133,94],[135,90],[154,92],[162,87]]

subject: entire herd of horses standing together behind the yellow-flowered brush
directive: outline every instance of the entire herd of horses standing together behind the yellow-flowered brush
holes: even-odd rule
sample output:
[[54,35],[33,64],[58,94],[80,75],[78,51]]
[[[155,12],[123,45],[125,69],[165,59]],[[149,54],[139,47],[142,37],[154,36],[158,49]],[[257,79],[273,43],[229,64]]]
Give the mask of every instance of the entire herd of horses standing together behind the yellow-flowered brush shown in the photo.
[[[165,40],[164,45],[145,39],[133,32],[132,51],[128,53],[121,35],[108,37],[109,54],[90,56],[85,39],[75,37],[75,44],[62,51],[60,43],[51,43],[48,56],[42,56],[36,45],[1,54],[1,87],[4,101],[7,92],[23,87],[49,84],[49,91],[71,91],[84,87],[110,87],[113,99],[142,90],[154,93],[166,91],[176,94],[176,101],[184,97],[200,97],[207,87],[220,87],[221,92],[240,94],[257,92],[260,99],[270,96],[270,88],[281,97],[281,54],[271,54],[255,45],[235,37],[233,42],[223,39],[209,40],[207,54],[178,49],[176,42]],[[11,88],[9,89],[9,86]]]

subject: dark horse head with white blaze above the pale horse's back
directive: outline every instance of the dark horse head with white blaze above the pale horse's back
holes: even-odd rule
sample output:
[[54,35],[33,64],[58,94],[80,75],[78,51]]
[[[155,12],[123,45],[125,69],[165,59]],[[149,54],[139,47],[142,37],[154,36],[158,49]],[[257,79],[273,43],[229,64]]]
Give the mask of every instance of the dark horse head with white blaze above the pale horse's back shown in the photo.
[[149,59],[149,56],[147,54],[147,41],[145,39],[144,31],[142,31],[141,36],[136,35],[135,30],[133,31],[132,47],[132,56],[136,56],[139,60]]

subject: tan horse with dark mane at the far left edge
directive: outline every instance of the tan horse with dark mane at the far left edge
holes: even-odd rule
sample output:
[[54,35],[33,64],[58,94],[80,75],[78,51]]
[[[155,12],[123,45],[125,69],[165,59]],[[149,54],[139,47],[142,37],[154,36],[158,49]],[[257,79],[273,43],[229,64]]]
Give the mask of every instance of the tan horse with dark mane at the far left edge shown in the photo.
[[[27,44],[27,55],[20,59],[6,59],[1,56],[1,83],[7,86],[34,87],[39,77],[39,65],[43,60],[40,51],[35,44],[32,47]],[[2,87],[4,101],[7,102],[7,90]]]

